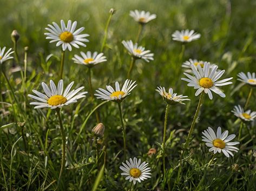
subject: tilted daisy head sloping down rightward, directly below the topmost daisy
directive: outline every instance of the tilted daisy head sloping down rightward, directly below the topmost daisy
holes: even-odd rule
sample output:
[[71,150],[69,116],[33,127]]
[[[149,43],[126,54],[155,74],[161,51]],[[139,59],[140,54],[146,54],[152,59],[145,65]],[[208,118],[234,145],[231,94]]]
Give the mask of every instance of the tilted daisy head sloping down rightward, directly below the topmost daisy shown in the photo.
[[150,50],[145,50],[145,47],[143,46],[138,47],[138,44],[133,44],[132,40],[123,40],[122,44],[129,51],[129,54],[135,59],[144,59],[146,62],[149,62],[149,60],[154,60],[154,53],[150,53]]

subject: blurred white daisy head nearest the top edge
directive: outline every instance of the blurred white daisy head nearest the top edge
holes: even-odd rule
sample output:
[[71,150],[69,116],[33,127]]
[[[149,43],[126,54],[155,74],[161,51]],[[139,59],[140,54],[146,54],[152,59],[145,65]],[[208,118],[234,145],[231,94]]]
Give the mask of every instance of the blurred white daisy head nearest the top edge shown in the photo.
[[156,18],[155,14],[150,15],[150,12],[145,11],[130,11],[130,16],[134,18],[134,20],[140,24],[146,24],[149,21]]

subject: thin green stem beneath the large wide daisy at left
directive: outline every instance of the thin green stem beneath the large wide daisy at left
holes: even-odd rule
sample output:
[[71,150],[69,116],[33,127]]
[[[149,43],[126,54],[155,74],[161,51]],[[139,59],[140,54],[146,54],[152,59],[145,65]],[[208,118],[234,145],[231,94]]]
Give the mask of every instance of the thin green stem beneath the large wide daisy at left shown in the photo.
[[61,110],[60,108],[56,109],[57,115],[58,115],[58,121],[60,122],[60,127],[61,127],[61,135],[62,135],[62,158],[61,158],[61,170],[60,170],[60,175],[58,176],[58,182],[61,180],[61,174],[63,172],[64,166],[65,166],[65,151],[66,151],[66,137],[65,137],[65,132],[64,128],[62,125],[62,120],[61,120]]

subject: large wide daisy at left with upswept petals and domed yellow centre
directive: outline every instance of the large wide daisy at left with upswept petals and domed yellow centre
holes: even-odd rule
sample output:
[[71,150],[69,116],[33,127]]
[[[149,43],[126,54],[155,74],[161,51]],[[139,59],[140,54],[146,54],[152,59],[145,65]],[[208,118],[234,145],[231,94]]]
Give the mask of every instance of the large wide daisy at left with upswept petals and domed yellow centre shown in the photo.
[[54,81],[50,80],[51,90],[45,83],[42,83],[42,87],[46,95],[36,90],[32,90],[32,92],[34,92],[38,97],[30,94],[28,96],[40,102],[31,102],[30,105],[36,105],[34,107],[35,109],[43,107],[50,107],[51,109],[55,109],[57,107],[63,107],[64,105],[74,104],[77,102],[77,99],[86,97],[86,95],[84,94],[86,94],[87,92],[80,92],[84,87],[80,87],[76,90],[70,91],[73,84],[74,81],[72,81],[63,92],[62,79],[58,81],[57,87],[54,84]]

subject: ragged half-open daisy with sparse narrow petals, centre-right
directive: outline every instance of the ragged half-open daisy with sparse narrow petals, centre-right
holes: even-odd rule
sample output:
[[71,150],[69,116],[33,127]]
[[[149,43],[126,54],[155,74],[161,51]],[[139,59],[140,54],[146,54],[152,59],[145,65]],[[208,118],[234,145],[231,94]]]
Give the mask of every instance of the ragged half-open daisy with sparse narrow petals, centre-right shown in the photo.
[[177,93],[173,93],[173,88],[169,88],[169,91],[166,92],[165,87],[157,87],[158,90],[156,90],[157,92],[159,92],[160,95],[162,95],[163,100],[166,101],[167,104],[169,105],[175,105],[175,104],[184,104],[182,103],[182,101],[185,100],[190,100],[190,99],[183,99],[183,98],[187,98],[187,96],[183,96],[183,95],[177,95]]

